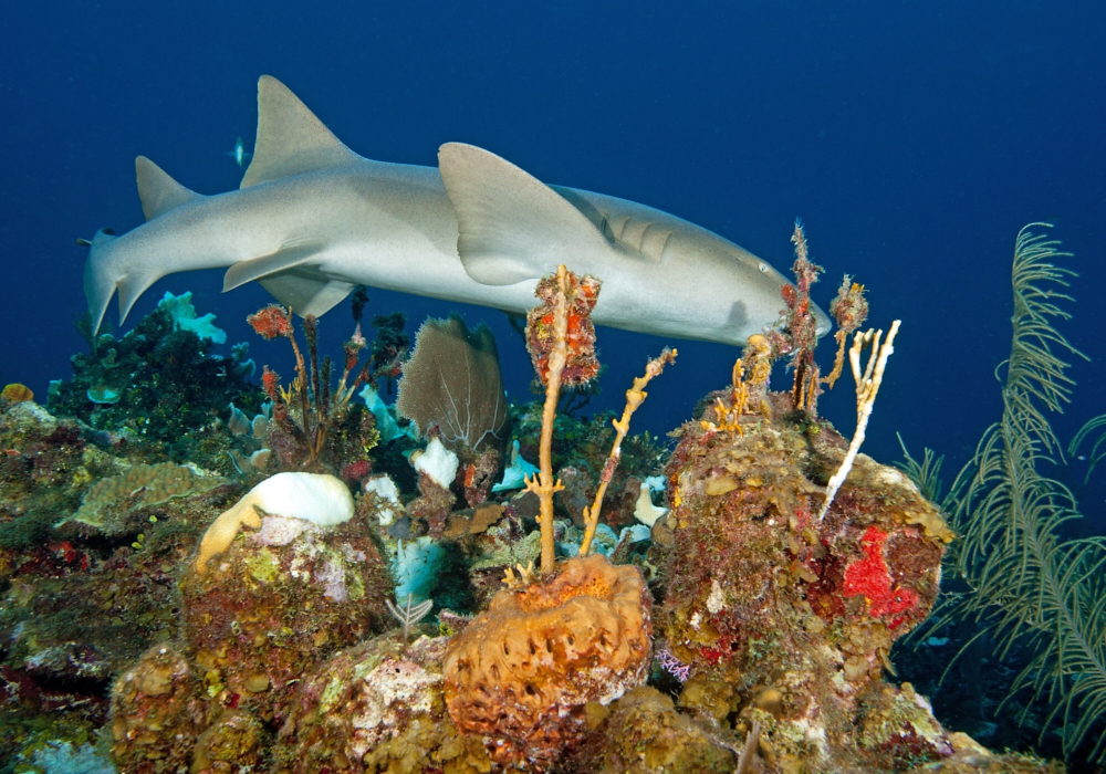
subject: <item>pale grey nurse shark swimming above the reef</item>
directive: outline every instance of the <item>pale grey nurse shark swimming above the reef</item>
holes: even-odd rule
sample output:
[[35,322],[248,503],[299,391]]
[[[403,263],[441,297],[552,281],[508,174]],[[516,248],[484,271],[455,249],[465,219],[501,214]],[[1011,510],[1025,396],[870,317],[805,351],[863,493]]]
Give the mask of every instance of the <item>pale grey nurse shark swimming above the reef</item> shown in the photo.
[[[564,263],[603,283],[598,325],[743,345],[782,324],[789,283],[733,242],[651,207],[549,186],[463,143],[438,168],[347,148],[284,84],[258,83],[253,158],[238,190],[192,191],[145,156],[135,163],[146,222],[88,241],[84,290],[98,330],[154,282],[223,269],[223,291],[258,282],[294,313],[320,316],[357,285],[524,314],[538,280]],[[822,335],[830,320],[815,308]]]

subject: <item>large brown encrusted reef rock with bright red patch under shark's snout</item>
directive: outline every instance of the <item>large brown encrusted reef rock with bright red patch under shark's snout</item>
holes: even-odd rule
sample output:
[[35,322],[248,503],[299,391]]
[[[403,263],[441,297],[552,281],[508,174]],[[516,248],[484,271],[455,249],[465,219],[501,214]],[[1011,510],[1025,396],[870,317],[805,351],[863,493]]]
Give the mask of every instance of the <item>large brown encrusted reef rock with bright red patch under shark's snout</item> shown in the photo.
[[668,533],[658,635],[687,666],[678,704],[740,730],[758,720],[771,771],[946,759],[928,704],[880,676],[929,614],[952,533],[906,475],[863,454],[820,522],[846,443],[786,408],[735,430],[689,423],[668,466],[672,510],[654,534]]

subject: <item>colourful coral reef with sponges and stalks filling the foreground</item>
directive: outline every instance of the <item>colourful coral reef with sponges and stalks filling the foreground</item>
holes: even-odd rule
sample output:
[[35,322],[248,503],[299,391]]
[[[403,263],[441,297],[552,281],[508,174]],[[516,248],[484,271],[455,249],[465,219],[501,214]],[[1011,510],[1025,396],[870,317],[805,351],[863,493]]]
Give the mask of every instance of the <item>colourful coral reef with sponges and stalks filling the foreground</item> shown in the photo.
[[[801,229],[794,241],[785,330],[749,339],[670,456],[628,428],[675,353],[635,379],[620,417],[559,414],[599,373],[599,283],[563,266],[529,317],[544,399],[512,409],[514,439],[497,436],[514,441],[501,487],[500,450],[449,450],[446,420],[411,449],[374,383],[397,376],[401,318],[378,318],[358,369],[363,289],[336,387],[316,322],[301,351],[273,305],[251,322],[292,342],[296,378],[267,369],[271,408],[259,393],[222,400],[179,439],[150,440],[126,414],[116,363],[148,344],[131,334],[91,342],[91,425],[0,398],[0,757],[98,772],[109,754],[122,774],[1062,771],[990,753],[937,721],[921,683],[885,681],[953,535],[936,488],[924,496],[817,417],[817,268]],[[207,341],[177,330],[210,327],[188,308],[144,321],[165,328],[155,349]],[[858,328],[863,287],[846,278],[832,308]],[[771,393],[787,355],[795,380]],[[879,356],[858,359],[870,410]],[[249,370],[242,348],[222,365]],[[365,406],[349,401],[361,383]],[[565,401],[562,386],[586,389]],[[929,641],[937,659],[949,640]]]

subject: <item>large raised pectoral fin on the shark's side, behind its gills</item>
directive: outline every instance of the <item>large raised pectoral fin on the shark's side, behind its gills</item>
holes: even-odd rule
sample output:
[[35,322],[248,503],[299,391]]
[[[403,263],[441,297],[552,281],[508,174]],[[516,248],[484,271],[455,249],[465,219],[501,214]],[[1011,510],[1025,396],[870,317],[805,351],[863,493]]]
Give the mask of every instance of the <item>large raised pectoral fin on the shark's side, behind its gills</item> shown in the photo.
[[447,143],[438,169],[457,212],[457,252],[477,282],[509,285],[612,250],[560,194],[495,154]]

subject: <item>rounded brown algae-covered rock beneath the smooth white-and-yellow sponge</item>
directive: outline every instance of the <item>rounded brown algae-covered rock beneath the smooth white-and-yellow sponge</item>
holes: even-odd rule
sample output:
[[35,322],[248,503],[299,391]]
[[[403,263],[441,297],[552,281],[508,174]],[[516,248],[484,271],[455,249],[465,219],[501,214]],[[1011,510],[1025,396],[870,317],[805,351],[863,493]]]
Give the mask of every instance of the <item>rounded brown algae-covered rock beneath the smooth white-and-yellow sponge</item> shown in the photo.
[[259,523],[206,568],[190,563],[182,631],[210,695],[280,722],[304,672],[384,628],[390,578],[364,516]]

